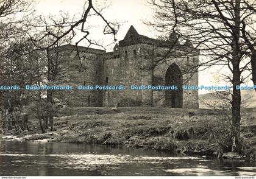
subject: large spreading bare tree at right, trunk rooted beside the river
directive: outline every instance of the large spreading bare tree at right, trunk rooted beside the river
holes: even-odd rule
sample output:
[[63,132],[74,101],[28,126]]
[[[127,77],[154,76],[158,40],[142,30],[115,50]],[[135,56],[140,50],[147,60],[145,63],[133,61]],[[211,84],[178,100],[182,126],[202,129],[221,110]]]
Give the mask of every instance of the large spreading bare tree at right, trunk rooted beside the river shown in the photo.
[[236,146],[233,150],[240,151],[241,93],[236,86],[246,79],[241,75],[245,71],[252,70],[254,76],[255,1],[152,0],[151,4],[156,9],[157,21],[149,24],[160,32],[175,31],[179,41],[190,41],[188,51],[193,45],[204,57],[198,64],[187,68],[189,71],[212,66],[230,69],[232,75],[226,77],[233,87],[231,119]]

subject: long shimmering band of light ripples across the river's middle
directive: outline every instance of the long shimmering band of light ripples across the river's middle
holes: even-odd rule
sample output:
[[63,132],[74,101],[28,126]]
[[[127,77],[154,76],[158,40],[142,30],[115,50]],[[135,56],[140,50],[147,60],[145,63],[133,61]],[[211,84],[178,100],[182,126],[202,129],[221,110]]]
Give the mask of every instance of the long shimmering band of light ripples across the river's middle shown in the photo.
[[[94,170],[100,166],[118,166],[123,164],[140,164],[140,163],[150,163],[150,164],[177,164],[177,160],[199,160],[201,158],[184,156],[184,157],[160,157],[160,156],[133,156],[133,155],[107,155],[107,154],[97,154],[97,153],[67,153],[67,154],[48,154],[48,155],[37,155],[37,154],[27,154],[27,153],[0,153],[0,156],[13,156],[13,157],[49,157],[52,161],[55,158],[62,158],[62,160],[56,160],[52,162],[52,167],[63,167],[68,169],[88,169]],[[24,159],[26,160],[26,159]],[[22,160],[23,161],[23,160]],[[16,160],[19,163],[20,160]],[[44,164],[44,161],[38,161]],[[49,163],[48,163],[49,165]]]

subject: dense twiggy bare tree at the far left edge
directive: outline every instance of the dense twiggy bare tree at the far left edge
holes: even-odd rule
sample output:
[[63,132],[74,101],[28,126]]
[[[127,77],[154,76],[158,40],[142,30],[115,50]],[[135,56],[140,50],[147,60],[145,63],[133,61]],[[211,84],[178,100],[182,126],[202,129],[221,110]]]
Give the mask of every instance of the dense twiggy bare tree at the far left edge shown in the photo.
[[[33,1],[2,0],[0,2],[0,80],[3,85],[19,85],[26,80],[27,66],[24,61],[27,57],[21,57],[23,50],[27,52],[27,44],[24,43],[24,32],[30,29],[29,19],[34,13]],[[20,77],[20,80],[18,80]],[[16,83],[16,84],[15,84]],[[5,93],[3,100],[11,103],[21,96],[22,91],[1,91]],[[1,96],[1,94],[0,94]],[[17,100],[16,100],[17,102]]]

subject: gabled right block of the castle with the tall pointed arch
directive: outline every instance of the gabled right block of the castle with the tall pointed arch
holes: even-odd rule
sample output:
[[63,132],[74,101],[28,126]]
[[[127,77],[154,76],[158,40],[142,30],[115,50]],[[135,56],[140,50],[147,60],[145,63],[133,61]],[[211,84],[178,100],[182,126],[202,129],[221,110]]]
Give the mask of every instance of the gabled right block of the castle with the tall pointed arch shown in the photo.
[[[175,44],[174,44],[175,43]],[[198,108],[198,91],[183,91],[182,85],[188,74],[182,74],[184,66],[198,62],[198,53],[176,57],[176,51],[187,52],[190,41],[180,44],[177,34],[172,32],[169,40],[155,40],[140,35],[130,26],[113,52],[104,55],[104,78],[107,85],[123,85],[126,90],[105,91],[103,106],[156,106],[177,108]],[[156,64],[166,54],[163,63]],[[187,57],[188,56],[188,57]],[[159,61],[158,61],[159,62]],[[198,85],[198,74],[188,80]],[[131,90],[130,86],[178,86],[178,90]]]

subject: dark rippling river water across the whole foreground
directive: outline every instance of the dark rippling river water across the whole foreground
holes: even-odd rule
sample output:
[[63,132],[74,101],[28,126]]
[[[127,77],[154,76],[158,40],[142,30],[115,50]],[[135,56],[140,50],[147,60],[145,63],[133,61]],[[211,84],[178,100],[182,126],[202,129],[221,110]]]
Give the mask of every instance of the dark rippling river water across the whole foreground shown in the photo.
[[0,175],[256,175],[256,162],[127,147],[0,141]]

